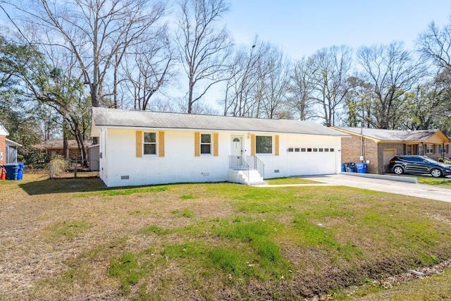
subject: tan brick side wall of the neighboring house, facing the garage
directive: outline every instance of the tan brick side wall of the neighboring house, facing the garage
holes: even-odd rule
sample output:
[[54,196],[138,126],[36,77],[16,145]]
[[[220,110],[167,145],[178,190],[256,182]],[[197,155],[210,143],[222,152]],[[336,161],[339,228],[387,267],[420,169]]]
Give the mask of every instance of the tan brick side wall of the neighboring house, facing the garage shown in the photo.
[[[366,164],[367,173],[378,173],[377,144],[371,139],[364,139],[364,156],[369,160]],[[360,137],[352,135],[350,138],[341,138],[341,163],[360,162],[361,144]]]

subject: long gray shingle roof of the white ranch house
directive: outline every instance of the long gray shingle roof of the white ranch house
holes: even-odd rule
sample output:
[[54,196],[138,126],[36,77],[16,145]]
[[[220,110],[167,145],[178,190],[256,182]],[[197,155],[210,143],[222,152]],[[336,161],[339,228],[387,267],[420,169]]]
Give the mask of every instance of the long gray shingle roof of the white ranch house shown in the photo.
[[192,130],[230,130],[266,133],[295,133],[347,137],[338,130],[309,121],[242,118],[230,116],[126,111],[92,108],[93,126],[124,128],[171,128]]

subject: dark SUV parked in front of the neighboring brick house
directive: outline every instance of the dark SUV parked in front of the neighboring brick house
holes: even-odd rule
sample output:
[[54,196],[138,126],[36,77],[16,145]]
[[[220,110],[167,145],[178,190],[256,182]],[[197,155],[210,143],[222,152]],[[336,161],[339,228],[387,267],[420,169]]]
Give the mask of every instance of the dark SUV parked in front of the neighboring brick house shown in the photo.
[[451,175],[451,165],[429,159],[427,156],[395,156],[390,160],[388,170],[400,175],[402,173],[431,173],[434,178]]

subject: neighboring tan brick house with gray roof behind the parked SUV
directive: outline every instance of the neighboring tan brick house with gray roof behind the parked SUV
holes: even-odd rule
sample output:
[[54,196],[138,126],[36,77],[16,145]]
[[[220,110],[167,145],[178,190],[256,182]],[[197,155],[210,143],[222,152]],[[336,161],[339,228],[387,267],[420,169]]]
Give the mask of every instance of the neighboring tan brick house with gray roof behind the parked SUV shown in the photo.
[[350,138],[342,138],[341,160],[365,162],[367,173],[385,173],[390,159],[398,154],[418,154],[431,159],[450,158],[450,137],[441,130],[383,130],[332,127]]

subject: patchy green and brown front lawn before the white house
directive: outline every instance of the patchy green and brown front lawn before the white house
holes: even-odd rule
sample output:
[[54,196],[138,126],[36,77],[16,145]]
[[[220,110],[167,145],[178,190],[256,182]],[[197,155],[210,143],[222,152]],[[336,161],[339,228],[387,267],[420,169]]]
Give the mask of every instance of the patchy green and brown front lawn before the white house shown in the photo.
[[[5,300],[351,300],[451,258],[445,202],[337,186],[24,178],[0,181]],[[342,293],[354,285],[358,295]]]

